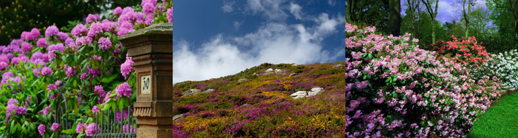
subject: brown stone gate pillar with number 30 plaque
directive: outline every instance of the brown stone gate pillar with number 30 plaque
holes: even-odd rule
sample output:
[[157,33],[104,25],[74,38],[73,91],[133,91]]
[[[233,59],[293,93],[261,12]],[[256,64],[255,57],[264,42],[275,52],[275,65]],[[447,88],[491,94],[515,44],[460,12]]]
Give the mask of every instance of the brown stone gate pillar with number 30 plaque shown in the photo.
[[173,24],[154,24],[119,40],[135,61],[137,137],[173,137]]

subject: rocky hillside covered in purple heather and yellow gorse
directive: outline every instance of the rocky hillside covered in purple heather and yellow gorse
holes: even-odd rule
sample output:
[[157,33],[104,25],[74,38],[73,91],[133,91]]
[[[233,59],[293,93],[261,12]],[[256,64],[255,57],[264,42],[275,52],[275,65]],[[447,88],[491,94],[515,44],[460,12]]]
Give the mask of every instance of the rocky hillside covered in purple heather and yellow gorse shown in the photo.
[[[176,83],[173,135],[345,137],[343,64],[262,63],[236,75]],[[313,96],[290,96],[306,94],[300,91]]]

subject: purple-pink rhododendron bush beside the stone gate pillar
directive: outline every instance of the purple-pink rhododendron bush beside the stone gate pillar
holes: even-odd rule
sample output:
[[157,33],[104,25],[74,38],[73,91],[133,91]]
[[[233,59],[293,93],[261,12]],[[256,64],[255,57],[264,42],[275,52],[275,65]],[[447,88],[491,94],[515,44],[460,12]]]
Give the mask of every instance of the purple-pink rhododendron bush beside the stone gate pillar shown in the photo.
[[[171,2],[144,0],[142,8],[117,7],[107,19],[89,14],[70,32],[34,28],[0,46],[0,137],[51,137],[57,131],[91,136],[99,132],[93,113],[111,109],[119,119],[128,117],[132,111],[121,108],[135,101],[135,72],[118,37],[171,23],[171,14]],[[58,97],[68,103],[68,118],[77,118],[72,129],[55,124]]]

